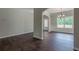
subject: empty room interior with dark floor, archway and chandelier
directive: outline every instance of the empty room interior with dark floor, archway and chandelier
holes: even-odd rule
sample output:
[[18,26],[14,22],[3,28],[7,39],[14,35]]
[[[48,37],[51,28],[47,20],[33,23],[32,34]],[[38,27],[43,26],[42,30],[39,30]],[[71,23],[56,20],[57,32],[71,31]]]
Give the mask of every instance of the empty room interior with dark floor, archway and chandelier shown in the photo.
[[0,8],[0,51],[79,51],[79,8]]

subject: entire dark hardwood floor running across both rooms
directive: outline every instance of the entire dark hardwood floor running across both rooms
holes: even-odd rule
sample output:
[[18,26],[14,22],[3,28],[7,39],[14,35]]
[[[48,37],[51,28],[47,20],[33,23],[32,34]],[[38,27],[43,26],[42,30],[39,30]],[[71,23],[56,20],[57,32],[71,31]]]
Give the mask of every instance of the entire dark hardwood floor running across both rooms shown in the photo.
[[44,33],[44,40],[32,38],[32,33],[0,39],[0,51],[72,51],[73,35]]

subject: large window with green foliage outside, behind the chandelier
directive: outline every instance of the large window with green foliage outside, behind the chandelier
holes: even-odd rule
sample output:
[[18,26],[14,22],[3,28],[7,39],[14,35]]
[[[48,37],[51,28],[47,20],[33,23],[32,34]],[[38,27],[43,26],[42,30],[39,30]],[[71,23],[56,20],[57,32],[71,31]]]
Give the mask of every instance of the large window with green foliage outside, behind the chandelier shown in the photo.
[[72,27],[73,27],[72,16],[57,18],[57,28],[72,28]]

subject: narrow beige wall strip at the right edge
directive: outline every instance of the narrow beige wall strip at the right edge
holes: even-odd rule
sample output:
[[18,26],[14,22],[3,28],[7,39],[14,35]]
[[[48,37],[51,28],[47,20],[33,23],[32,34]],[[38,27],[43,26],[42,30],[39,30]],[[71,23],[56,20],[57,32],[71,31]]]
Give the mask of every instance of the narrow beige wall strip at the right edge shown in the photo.
[[74,8],[74,48],[79,50],[79,8]]

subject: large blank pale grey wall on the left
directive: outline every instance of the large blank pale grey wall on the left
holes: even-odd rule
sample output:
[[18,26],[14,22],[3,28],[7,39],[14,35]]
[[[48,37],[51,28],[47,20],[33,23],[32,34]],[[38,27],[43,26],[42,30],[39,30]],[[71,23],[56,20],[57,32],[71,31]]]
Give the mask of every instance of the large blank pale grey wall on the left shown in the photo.
[[0,38],[33,32],[33,11],[0,8]]

